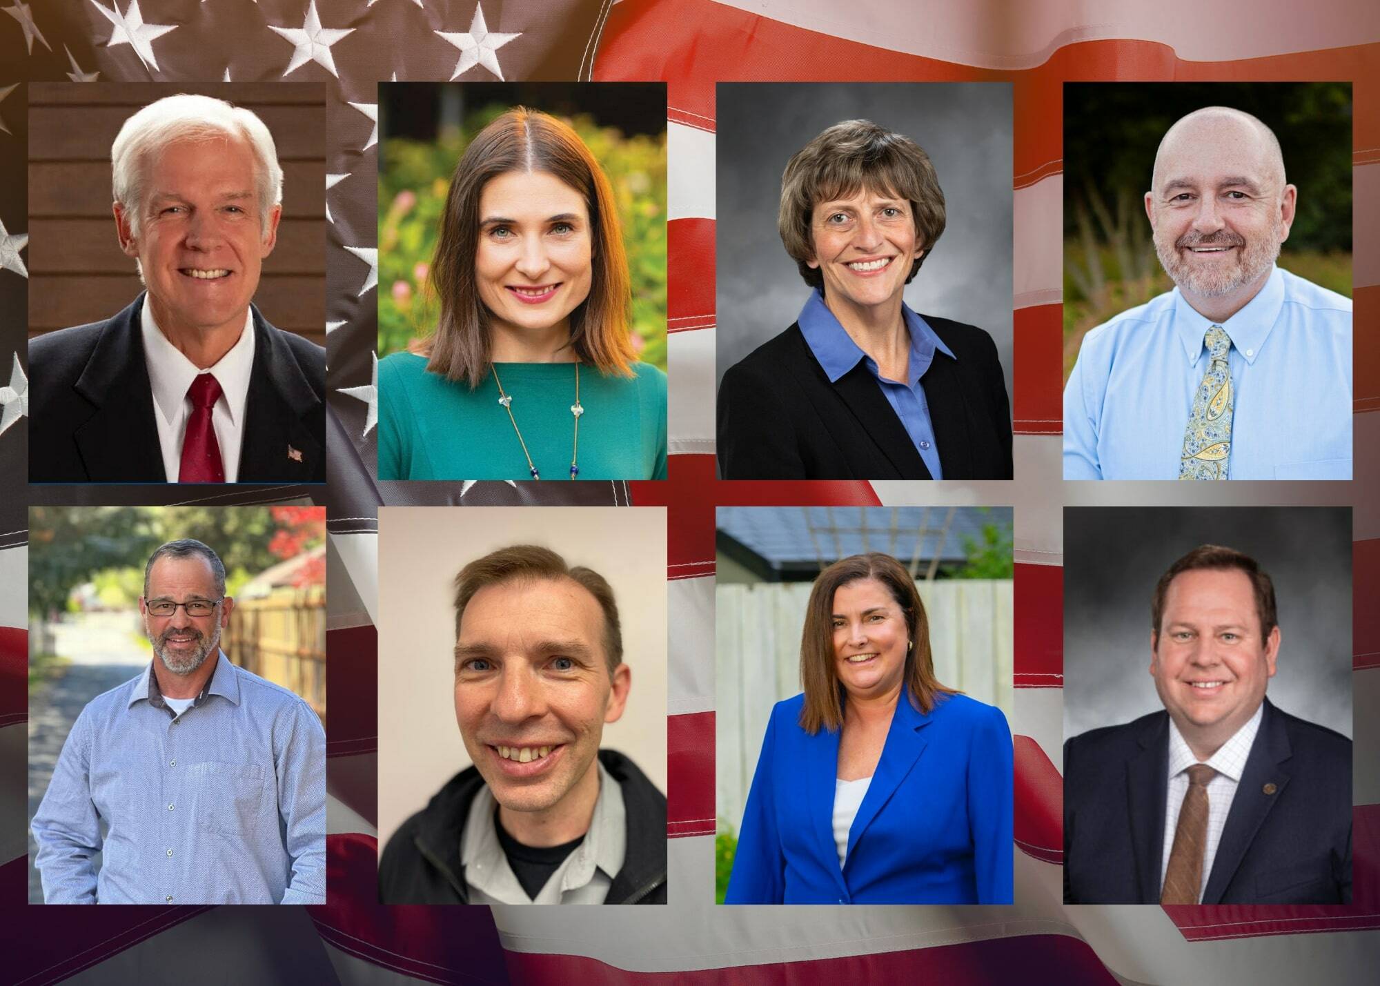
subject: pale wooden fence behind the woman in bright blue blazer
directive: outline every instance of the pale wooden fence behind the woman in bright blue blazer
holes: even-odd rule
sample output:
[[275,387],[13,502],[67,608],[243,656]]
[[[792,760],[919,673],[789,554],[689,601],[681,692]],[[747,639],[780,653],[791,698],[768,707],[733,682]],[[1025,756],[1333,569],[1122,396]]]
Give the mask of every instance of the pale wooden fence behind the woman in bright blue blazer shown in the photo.
[[[940,682],[1012,718],[1010,580],[919,581]],[[737,834],[771,706],[800,692],[810,583],[719,586],[715,592],[715,783],[720,829]]]

